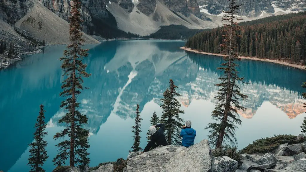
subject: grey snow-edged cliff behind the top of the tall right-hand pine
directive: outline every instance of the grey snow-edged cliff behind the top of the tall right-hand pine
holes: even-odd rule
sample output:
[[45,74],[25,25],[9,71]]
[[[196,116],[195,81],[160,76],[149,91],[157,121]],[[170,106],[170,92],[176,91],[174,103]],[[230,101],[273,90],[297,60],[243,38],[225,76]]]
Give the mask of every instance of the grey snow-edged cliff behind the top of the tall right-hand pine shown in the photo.
[[[207,9],[211,14],[218,15],[223,10],[227,10],[230,2],[228,0],[199,0],[201,9]],[[242,4],[239,15],[257,17],[262,12],[274,13],[274,8],[270,0],[238,0],[237,4]]]

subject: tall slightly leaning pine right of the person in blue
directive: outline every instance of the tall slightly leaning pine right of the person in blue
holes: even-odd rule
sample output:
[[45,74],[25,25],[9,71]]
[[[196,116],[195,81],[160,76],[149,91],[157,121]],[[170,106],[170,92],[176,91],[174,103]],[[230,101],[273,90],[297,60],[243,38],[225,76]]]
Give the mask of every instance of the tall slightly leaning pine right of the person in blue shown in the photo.
[[243,78],[238,77],[237,67],[235,60],[240,60],[238,54],[234,51],[237,47],[237,43],[233,36],[237,35],[237,31],[240,30],[236,17],[237,10],[241,5],[236,4],[236,0],[230,0],[229,11],[226,11],[222,17],[223,21],[229,22],[224,24],[224,40],[221,46],[227,52],[227,56],[224,57],[225,62],[221,64],[222,67],[218,69],[222,70],[222,76],[219,78],[220,84],[216,86],[221,87],[218,91],[217,106],[212,111],[212,118],[221,123],[210,123],[205,129],[209,129],[210,135],[208,136],[211,145],[216,148],[221,148],[224,144],[224,140],[230,142],[232,145],[237,144],[235,137],[236,124],[241,125],[241,120],[237,114],[237,110],[244,110],[245,108],[239,105],[239,98],[246,99],[247,96],[243,95],[239,91],[239,87],[236,81],[243,82]]

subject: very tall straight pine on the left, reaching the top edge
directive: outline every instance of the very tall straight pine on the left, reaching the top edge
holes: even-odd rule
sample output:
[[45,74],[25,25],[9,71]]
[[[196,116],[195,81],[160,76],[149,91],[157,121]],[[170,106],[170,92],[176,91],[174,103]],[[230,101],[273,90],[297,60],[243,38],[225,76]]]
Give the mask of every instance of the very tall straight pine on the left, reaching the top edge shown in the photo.
[[58,122],[66,123],[66,128],[60,133],[56,133],[54,139],[68,136],[69,140],[57,144],[59,152],[53,162],[55,166],[62,166],[69,158],[69,166],[77,165],[82,169],[89,163],[89,153],[87,152],[89,130],[82,128],[87,124],[88,118],[77,110],[80,103],[77,103],[76,98],[84,89],[82,77],[89,77],[90,74],[85,71],[87,65],[82,63],[83,57],[88,56],[88,50],[81,47],[84,39],[82,39],[80,32],[80,7],[80,1],[73,0],[69,17],[71,43],[67,46],[69,50],[64,50],[64,57],[60,58],[63,61],[61,68],[64,71],[63,77],[65,77],[62,84],[63,92],[60,93],[60,96],[67,97],[62,101],[60,107],[64,108],[67,113]]

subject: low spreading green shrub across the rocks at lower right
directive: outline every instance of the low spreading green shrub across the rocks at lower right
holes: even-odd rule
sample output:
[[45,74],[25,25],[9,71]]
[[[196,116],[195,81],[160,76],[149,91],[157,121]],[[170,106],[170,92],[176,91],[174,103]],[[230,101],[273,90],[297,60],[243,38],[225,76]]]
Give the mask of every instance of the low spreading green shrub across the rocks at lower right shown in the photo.
[[298,144],[306,141],[306,138],[297,140],[297,136],[293,135],[274,135],[274,137],[261,138],[253,141],[247,147],[241,150],[241,153],[254,154],[254,153],[269,153],[273,152],[280,144]]

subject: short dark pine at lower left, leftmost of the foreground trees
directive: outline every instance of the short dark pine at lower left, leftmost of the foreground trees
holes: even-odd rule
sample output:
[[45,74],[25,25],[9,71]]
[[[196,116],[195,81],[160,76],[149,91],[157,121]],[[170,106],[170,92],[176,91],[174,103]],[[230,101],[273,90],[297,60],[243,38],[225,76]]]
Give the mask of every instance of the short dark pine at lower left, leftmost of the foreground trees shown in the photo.
[[47,124],[45,124],[45,110],[43,110],[43,105],[40,105],[39,116],[35,123],[36,131],[34,133],[34,142],[30,144],[31,149],[29,157],[29,165],[31,166],[30,172],[44,172],[42,168],[44,162],[47,160],[48,155],[46,151],[47,141],[43,139],[47,132],[44,132]]

